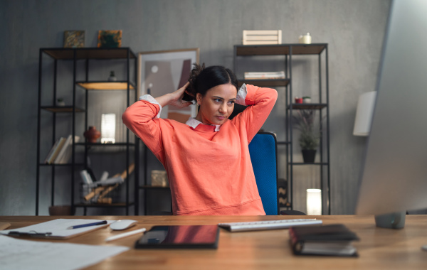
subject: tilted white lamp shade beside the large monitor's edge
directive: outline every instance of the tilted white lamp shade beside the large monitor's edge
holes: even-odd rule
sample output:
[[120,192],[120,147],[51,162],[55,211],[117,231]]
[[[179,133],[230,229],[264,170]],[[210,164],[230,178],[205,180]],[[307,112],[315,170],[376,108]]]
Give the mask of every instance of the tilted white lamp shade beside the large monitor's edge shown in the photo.
[[354,136],[369,135],[372,115],[374,114],[375,99],[376,91],[366,92],[359,97],[359,102],[357,102],[356,119],[354,120]]

